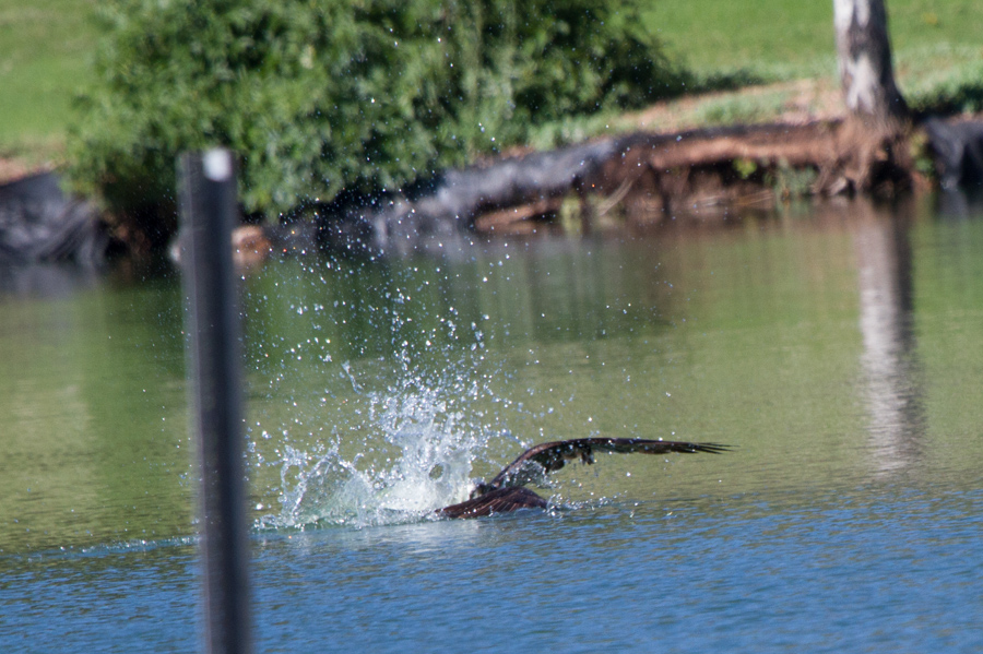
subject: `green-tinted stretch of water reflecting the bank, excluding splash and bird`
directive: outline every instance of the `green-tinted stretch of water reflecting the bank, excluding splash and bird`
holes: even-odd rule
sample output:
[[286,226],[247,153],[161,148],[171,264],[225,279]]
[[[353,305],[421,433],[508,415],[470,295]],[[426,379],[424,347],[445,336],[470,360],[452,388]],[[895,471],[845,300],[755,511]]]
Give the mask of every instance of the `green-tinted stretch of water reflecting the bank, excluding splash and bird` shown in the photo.
[[[270,262],[244,282],[256,515],[279,508],[286,444],[337,440],[382,465],[387,424],[368,414],[428,388],[442,389],[438,419],[485,435],[479,476],[518,441],[738,445],[570,471],[560,495],[575,500],[780,507],[867,484],[978,488],[981,252],[983,221],[938,217],[926,198],[442,258]],[[141,276],[0,295],[0,552],[193,533],[179,280]]]

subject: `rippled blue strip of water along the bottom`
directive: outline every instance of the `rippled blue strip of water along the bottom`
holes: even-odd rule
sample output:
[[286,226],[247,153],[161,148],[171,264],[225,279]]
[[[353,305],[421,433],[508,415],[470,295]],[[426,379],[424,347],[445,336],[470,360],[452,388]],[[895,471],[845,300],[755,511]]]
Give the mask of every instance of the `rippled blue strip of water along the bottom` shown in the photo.
[[[983,492],[883,487],[779,501],[256,536],[257,651],[983,647]],[[24,559],[0,586],[0,646],[191,651],[194,551]]]

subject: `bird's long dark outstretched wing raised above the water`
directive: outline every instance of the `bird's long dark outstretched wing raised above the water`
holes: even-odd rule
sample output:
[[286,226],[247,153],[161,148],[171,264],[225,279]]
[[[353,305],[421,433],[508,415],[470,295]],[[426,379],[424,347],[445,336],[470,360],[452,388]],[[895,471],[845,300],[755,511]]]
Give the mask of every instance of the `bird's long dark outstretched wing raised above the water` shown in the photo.
[[718,443],[687,443],[680,441],[646,440],[641,438],[578,438],[573,440],[542,443],[530,448],[498,473],[485,488],[524,486],[541,480],[546,474],[560,469],[567,461],[580,459],[583,463],[594,463],[595,452],[618,452],[620,454],[668,454],[679,452],[692,454],[726,452],[730,445]]

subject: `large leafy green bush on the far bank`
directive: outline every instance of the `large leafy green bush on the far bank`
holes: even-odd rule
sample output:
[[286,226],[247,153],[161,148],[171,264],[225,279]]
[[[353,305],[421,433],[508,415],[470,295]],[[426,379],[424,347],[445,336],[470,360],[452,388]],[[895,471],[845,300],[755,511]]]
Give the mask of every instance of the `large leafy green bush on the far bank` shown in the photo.
[[169,201],[187,148],[234,148],[246,209],[275,215],[678,85],[627,0],[112,0],[102,16],[70,173],[118,211]]

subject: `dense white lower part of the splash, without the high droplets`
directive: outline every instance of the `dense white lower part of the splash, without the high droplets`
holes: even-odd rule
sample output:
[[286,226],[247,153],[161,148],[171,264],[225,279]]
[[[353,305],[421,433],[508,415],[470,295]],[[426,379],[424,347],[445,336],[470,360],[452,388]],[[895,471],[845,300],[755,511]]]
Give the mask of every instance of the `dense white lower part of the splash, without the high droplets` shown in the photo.
[[[352,368],[344,373],[360,390]],[[309,449],[283,447],[281,511],[262,516],[260,528],[398,524],[466,497],[472,462],[496,436],[481,425],[482,412],[469,416],[461,407],[462,385],[474,383],[458,377],[421,388],[418,373],[402,373],[399,383],[364,394],[367,409],[351,412],[347,432],[363,435],[355,454],[342,452],[340,438]]]

